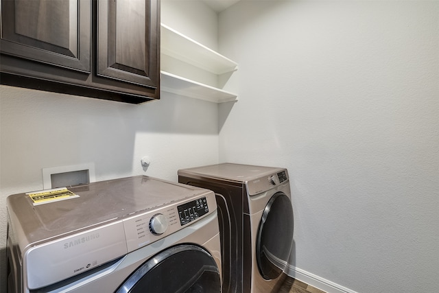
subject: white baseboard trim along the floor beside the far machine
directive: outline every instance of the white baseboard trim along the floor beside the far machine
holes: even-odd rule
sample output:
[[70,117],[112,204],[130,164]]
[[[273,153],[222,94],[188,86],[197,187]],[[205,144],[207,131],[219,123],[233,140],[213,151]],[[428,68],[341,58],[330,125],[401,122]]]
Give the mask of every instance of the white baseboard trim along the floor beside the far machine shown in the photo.
[[317,276],[316,274],[311,274],[311,272],[307,272],[306,270],[302,270],[300,268],[296,268],[294,266],[288,266],[287,274],[289,277],[294,279],[298,279],[308,285],[316,287],[324,292],[328,293],[358,293],[354,290],[343,287],[342,285],[338,285],[337,283],[331,282],[327,279]]

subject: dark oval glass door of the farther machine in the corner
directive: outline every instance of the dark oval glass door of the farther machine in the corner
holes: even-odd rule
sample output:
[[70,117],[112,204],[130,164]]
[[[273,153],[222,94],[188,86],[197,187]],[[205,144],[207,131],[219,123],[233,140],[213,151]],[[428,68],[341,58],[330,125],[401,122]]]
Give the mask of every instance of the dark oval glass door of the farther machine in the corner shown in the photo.
[[291,200],[278,192],[272,196],[262,215],[256,244],[259,272],[264,279],[276,279],[285,270],[293,242]]

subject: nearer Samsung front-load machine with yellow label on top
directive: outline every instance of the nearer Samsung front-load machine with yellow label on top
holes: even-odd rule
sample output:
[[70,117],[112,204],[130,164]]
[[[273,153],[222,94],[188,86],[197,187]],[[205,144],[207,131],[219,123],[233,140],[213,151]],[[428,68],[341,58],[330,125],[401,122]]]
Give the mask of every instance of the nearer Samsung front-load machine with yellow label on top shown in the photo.
[[66,190],[8,197],[8,292],[221,292],[212,191],[147,176]]

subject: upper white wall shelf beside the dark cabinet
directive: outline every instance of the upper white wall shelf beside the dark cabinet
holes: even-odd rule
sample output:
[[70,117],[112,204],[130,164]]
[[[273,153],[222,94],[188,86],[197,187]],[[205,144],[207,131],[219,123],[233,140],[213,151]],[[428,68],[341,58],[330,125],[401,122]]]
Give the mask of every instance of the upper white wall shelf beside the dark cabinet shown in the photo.
[[161,24],[161,52],[215,74],[237,70],[237,63]]

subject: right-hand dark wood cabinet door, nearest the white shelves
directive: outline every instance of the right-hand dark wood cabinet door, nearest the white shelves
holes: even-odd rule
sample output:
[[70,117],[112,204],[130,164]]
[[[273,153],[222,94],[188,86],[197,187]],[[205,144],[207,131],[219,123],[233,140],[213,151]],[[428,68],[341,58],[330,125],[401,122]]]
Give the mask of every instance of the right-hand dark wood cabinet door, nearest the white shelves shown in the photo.
[[158,89],[158,0],[97,4],[97,75]]

